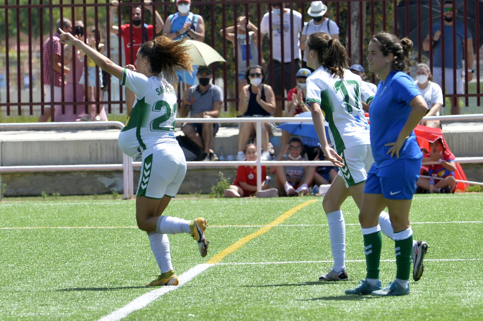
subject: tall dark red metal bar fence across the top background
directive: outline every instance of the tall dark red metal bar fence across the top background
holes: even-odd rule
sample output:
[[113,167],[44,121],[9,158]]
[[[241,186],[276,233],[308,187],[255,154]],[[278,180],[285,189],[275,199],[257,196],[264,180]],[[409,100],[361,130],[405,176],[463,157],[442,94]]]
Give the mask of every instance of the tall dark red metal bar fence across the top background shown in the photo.
[[[3,15],[3,19],[0,18],[0,29],[3,25],[4,36],[0,36],[0,51],[4,53],[4,60],[1,60],[0,56],[0,109],[5,111],[5,115],[10,115],[12,108],[16,107],[16,113],[21,115],[22,113],[28,113],[33,115],[34,110],[39,109],[41,113],[44,111],[44,107],[53,107],[54,105],[60,106],[62,114],[66,112],[78,113],[78,111],[87,111],[87,97],[84,95],[83,99],[77,99],[76,91],[79,90],[76,85],[72,86],[72,93],[69,92],[71,99],[66,99],[65,88],[62,87],[61,101],[56,101],[55,104],[46,102],[44,99],[43,90],[43,78],[44,71],[43,65],[46,60],[50,60],[50,66],[52,66],[53,54],[52,54],[52,42],[50,48],[50,57],[43,56],[43,43],[48,38],[52,37],[56,32],[55,23],[59,17],[67,17],[72,21],[72,24],[76,20],[82,20],[87,26],[96,27],[96,38],[105,39],[105,55],[114,59],[119,65],[123,65],[125,62],[124,57],[124,45],[122,37],[110,36],[110,9],[111,4],[107,0],[57,0],[57,1],[43,1],[43,0],[5,0],[4,4],[0,5],[0,9],[3,10],[3,14],[0,13],[0,17]],[[207,1],[192,1],[191,11],[199,14],[204,18],[205,22],[205,37],[204,42],[211,45],[216,49],[226,60],[227,64],[214,63],[212,64],[213,82],[217,81],[218,84],[223,86],[224,91],[224,109],[238,108],[238,74],[244,72],[239,70],[237,60],[239,55],[238,47],[232,45],[230,41],[224,40],[223,32],[220,33],[220,29],[224,29],[229,26],[237,24],[237,17],[243,15],[250,19],[250,21],[260,30],[261,22],[264,15],[267,15],[269,20],[268,34],[262,35],[260,32],[256,34],[256,45],[258,60],[250,61],[249,55],[247,55],[246,65],[249,66],[253,63],[262,64],[264,59],[267,64],[268,84],[274,85],[274,64],[278,62],[273,59],[274,54],[280,53],[281,60],[285,61],[287,57],[298,57],[299,34],[290,33],[288,38],[281,37],[280,47],[274,45],[273,41],[276,36],[275,33],[284,32],[281,29],[289,28],[294,30],[297,26],[294,14],[296,12],[301,14],[302,22],[307,22],[311,17],[307,14],[307,9],[310,7],[308,0],[291,0],[284,1],[286,8],[289,9],[289,16],[273,14],[270,10],[270,3],[278,2],[273,0],[207,0]],[[429,46],[429,52],[426,53],[423,50],[423,40],[426,35],[430,35],[432,38],[434,24],[440,23],[444,25],[443,6],[444,1],[440,0],[371,0],[371,1],[330,1],[324,3],[328,7],[326,17],[335,21],[340,28],[340,39],[345,45],[351,64],[365,64],[365,53],[367,52],[367,46],[372,34],[378,31],[387,31],[395,33],[399,36],[410,36],[414,41],[414,49],[412,55],[412,63],[428,61],[431,69],[433,69],[433,59],[427,59],[425,55],[433,56],[433,46]],[[145,10],[143,2],[134,2],[132,0],[122,2],[114,12],[114,25],[121,28],[123,23],[129,23],[130,16],[132,14],[134,6],[141,5],[141,29],[142,40],[145,39],[147,33],[144,32],[144,23],[151,24],[156,29],[156,19],[153,19],[155,12],[158,12],[163,21],[166,22],[169,15],[176,13],[177,9],[173,2],[153,2],[150,10]],[[467,64],[462,67],[465,71],[464,76],[464,93],[463,94],[446,94],[446,97],[462,97],[464,98],[465,105],[481,106],[482,93],[480,90],[480,29],[479,26],[483,22],[480,16],[480,11],[483,10],[483,4],[480,0],[454,0],[453,11],[456,8],[459,10],[458,16],[461,16],[461,25],[464,28],[464,39],[473,38],[474,57],[476,61],[476,68],[474,74],[474,80],[469,81],[468,69],[472,69],[473,66]],[[429,14],[431,13],[431,14]],[[471,20],[471,19],[472,20]],[[278,21],[280,19],[280,21]],[[286,19],[286,20],[284,20]],[[458,18],[459,19],[459,18]],[[3,21],[1,21],[3,20]],[[474,25],[474,26],[473,26]],[[282,28],[280,26],[283,26]],[[301,28],[302,26],[298,26]],[[448,39],[445,40],[444,32],[445,28],[441,29],[441,64],[445,65],[444,51],[449,50],[452,46],[453,52],[456,51],[457,38],[456,38],[456,24],[453,24],[453,39],[448,43]],[[473,28],[474,31],[471,37],[468,35],[468,27]],[[459,27],[458,27],[459,28]],[[2,30],[3,31],[3,30]],[[246,32],[248,28],[246,29]],[[132,42],[133,27],[132,24],[128,28],[130,41]],[[471,31],[470,31],[471,32]],[[72,33],[74,28],[72,27]],[[160,35],[163,32],[159,32],[156,35]],[[237,39],[237,28],[234,29],[235,39]],[[146,35],[146,36],[145,36]],[[100,37],[103,36],[103,37]],[[154,37],[153,36],[153,37]],[[117,37],[117,39],[115,39]],[[26,38],[26,39],[22,39]],[[114,39],[114,41],[112,40]],[[117,40],[117,41],[116,41]],[[290,43],[290,45],[288,45]],[[464,42],[464,61],[470,61],[470,53],[468,52],[469,42]],[[121,54],[117,54],[121,51]],[[74,59],[75,61],[75,50]],[[115,57],[113,52],[116,53]],[[131,51],[132,55],[132,51]],[[300,57],[303,56],[303,52],[300,53]],[[38,57],[37,59],[34,59]],[[64,67],[64,52],[62,51],[60,57],[61,68]],[[130,58],[130,57],[129,57]],[[295,72],[298,70],[298,62],[294,59],[288,59],[289,63],[286,65],[281,64],[282,76],[281,84],[283,86],[285,77],[289,75],[286,69],[290,70],[292,75],[290,78],[292,86],[295,86]],[[132,59],[130,59],[132,61]],[[453,66],[457,63],[456,54],[453,55]],[[22,72],[22,66],[23,72]],[[84,68],[87,67],[87,62],[84,62]],[[367,70],[367,69],[366,69]],[[82,72],[77,68],[71,68],[71,73],[68,77],[77,77],[77,73]],[[369,79],[372,82],[376,82],[376,77],[368,72]],[[65,75],[62,74],[62,82],[66,80]],[[445,68],[442,68],[442,89],[445,89],[445,78],[452,77],[456,79],[456,69],[448,74],[445,72]],[[50,100],[54,100],[53,90],[53,72],[52,67],[50,70],[50,83],[51,83],[51,97]],[[99,83],[99,80],[97,80]],[[85,73],[85,82],[87,82],[87,73]],[[278,81],[277,81],[278,82]],[[119,82],[115,82],[108,77],[107,86],[105,92],[99,91],[96,94],[95,100],[89,102],[96,106],[97,112],[103,106],[107,106],[107,112],[112,113],[114,108],[120,113],[125,112],[123,108],[124,95],[123,89],[121,89]],[[118,88],[114,88],[118,86]],[[453,91],[456,92],[456,81],[454,81]],[[2,90],[4,88],[4,93]],[[25,87],[25,89],[22,89]],[[28,87],[28,88],[27,88]],[[115,90],[114,90],[115,89]],[[69,89],[70,91],[70,89]],[[276,98],[277,101],[282,103],[286,97],[280,96]],[[67,108],[69,106],[71,108]],[[26,107],[28,109],[23,109]],[[114,107],[114,108],[113,108]],[[119,108],[119,109],[117,109]],[[281,116],[280,111],[277,111]],[[55,120],[54,108],[51,108],[52,120]]]

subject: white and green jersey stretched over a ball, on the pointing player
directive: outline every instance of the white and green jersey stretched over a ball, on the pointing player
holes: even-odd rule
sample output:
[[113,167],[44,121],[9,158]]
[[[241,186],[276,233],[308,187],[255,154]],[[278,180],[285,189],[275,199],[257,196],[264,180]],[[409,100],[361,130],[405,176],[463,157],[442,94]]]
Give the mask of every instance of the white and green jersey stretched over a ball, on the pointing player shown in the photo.
[[178,145],[174,136],[177,97],[173,86],[164,78],[150,77],[124,69],[122,85],[136,100],[126,126],[119,134],[119,147],[136,159],[145,149],[160,143]]

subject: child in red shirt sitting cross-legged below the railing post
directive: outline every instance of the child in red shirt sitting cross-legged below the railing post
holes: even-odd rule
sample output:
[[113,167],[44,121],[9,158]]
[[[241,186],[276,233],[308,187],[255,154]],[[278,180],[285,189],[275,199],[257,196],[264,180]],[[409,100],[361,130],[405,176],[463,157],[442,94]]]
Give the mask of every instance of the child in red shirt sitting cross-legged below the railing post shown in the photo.
[[[256,161],[256,146],[254,144],[248,144],[244,153],[247,161]],[[267,168],[262,166],[262,190],[256,190],[256,166],[238,166],[237,176],[233,185],[230,185],[225,190],[225,197],[248,197],[256,195],[256,197],[275,197],[278,194],[276,188],[270,188],[270,184],[267,184],[265,177],[267,176]]]

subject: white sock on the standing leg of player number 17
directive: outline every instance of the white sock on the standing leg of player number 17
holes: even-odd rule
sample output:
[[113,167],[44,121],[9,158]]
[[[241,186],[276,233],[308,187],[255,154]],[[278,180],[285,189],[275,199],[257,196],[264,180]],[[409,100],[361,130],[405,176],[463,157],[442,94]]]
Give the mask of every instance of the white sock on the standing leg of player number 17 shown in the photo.
[[330,248],[334,257],[334,271],[345,267],[345,221],[342,211],[327,214],[329,223]]

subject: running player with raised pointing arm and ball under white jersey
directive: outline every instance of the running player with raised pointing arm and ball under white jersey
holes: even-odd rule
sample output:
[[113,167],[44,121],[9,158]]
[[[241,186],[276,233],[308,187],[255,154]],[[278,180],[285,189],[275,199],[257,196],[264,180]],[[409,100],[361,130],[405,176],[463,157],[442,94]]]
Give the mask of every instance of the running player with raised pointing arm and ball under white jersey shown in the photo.
[[201,256],[208,252],[204,218],[187,221],[162,216],[186,174],[185,155],[174,137],[177,98],[171,85],[177,82],[176,69],[193,69],[188,47],[183,44],[185,40],[159,36],[144,42],[136,54],[136,66],[122,68],[71,34],[61,33],[62,43],[79,47],[96,65],[119,78],[136,94],[130,118],[119,134],[119,147],[134,159],[142,155],[136,221],[148,233],[161,272],[146,286],[178,285],[167,234],[188,233],[198,242]]

